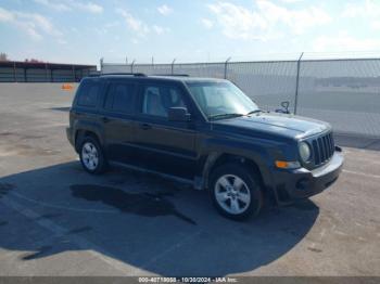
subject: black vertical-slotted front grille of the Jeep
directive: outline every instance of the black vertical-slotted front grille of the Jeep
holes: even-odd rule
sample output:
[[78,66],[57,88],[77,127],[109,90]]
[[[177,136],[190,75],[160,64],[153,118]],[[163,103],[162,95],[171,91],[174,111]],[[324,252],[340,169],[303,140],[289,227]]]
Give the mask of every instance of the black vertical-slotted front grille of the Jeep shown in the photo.
[[319,166],[331,158],[334,152],[332,132],[313,140],[314,165]]

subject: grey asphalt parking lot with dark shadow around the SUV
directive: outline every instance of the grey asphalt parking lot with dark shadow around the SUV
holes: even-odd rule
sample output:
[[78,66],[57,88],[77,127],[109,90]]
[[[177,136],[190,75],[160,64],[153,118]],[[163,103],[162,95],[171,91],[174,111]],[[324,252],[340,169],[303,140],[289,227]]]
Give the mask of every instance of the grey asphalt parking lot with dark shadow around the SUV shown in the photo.
[[329,190],[235,222],[187,185],[86,173],[65,137],[73,94],[0,86],[0,275],[380,275],[379,141],[337,137]]

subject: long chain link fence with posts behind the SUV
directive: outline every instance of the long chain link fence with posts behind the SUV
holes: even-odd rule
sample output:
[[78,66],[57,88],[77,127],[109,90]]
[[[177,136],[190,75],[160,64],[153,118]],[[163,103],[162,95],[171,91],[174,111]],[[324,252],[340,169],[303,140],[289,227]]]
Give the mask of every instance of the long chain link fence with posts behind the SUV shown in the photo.
[[297,115],[330,122],[343,134],[380,138],[380,59],[111,64],[101,73],[187,74],[226,78],[262,108],[289,101]]

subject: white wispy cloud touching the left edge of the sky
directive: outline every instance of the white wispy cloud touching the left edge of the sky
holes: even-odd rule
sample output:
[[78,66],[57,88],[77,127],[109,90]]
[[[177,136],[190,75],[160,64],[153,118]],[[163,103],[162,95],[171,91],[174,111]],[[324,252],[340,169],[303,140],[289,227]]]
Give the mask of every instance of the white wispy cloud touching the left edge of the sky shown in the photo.
[[0,8],[0,22],[14,25],[34,40],[41,40],[43,38],[42,34],[58,39],[63,36],[49,18],[37,13],[9,11]]

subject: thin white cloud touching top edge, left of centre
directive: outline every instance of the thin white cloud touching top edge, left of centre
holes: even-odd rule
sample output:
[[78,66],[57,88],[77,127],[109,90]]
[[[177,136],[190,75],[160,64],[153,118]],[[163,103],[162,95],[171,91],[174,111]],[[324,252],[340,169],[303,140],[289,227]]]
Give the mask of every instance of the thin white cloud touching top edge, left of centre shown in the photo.
[[92,14],[101,14],[103,12],[103,7],[96,4],[93,2],[80,2],[68,0],[64,3],[59,0],[34,0],[38,4],[42,4],[50,9],[63,12],[63,11],[75,11],[80,10],[84,12],[92,13]]

